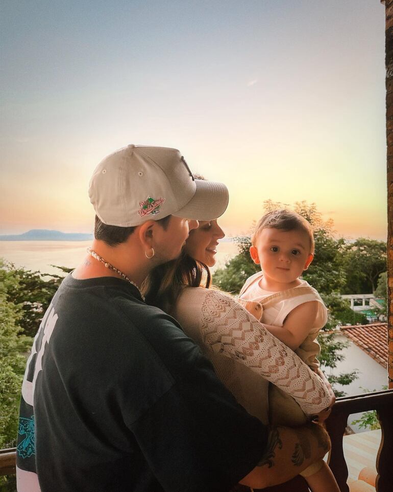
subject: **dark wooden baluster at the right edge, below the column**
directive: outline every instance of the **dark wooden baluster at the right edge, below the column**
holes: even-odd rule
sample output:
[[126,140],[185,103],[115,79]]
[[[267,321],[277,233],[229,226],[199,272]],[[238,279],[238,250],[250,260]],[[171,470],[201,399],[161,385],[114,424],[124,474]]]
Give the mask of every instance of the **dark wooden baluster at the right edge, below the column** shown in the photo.
[[377,492],[389,492],[393,484],[393,421],[391,406],[377,410],[381,424],[381,444],[377,454]]

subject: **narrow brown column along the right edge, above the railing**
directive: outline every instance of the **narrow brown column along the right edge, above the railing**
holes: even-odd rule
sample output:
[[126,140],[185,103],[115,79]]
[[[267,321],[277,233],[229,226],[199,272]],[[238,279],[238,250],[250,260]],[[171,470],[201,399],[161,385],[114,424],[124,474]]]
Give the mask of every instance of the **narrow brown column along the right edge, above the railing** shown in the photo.
[[[383,3],[383,2],[382,2]],[[385,2],[388,385],[393,388],[393,0]]]

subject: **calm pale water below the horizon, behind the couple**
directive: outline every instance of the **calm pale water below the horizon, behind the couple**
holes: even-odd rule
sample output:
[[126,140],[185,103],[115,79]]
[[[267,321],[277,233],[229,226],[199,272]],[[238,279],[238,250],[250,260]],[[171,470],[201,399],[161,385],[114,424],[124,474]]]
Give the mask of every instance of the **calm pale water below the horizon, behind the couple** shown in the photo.
[[[51,265],[75,267],[82,261],[91,241],[0,241],[0,257],[41,273],[61,273]],[[232,241],[222,242],[217,247],[217,267],[237,254]]]

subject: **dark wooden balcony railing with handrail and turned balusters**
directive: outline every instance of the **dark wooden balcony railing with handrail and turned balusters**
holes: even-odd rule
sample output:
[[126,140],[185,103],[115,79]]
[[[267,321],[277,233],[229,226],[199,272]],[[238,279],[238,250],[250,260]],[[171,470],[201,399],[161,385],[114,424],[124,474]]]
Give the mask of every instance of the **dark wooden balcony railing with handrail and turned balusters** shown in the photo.
[[[368,393],[357,396],[337,398],[326,427],[329,432],[332,449],[329,454],[329,466],[332,469],[341,492],[349,492],[347,485],[348,467],[342,448],[342,438],[347,427],[349,415],[358,412],[376,410],[381,424],[382,438],[376,458],[377,492],[390,492],[393,484],[393,390]],[[15,473],[15,448],[0,450],[0,475]],[[297,477],[285,484],[265,489],[266,492],[307,492],[306,482]]]

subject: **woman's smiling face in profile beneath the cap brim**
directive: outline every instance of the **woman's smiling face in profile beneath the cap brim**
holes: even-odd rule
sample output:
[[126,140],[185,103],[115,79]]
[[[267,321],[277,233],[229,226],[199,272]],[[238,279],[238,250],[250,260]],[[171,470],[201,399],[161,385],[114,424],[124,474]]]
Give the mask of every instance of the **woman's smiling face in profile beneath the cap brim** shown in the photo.
[[199,228],[190,231],[184,251],[191,258],[207,266],[213,266],[218,239],[224,236],[224,231],[217,224],[217,220],[201,220]]

